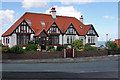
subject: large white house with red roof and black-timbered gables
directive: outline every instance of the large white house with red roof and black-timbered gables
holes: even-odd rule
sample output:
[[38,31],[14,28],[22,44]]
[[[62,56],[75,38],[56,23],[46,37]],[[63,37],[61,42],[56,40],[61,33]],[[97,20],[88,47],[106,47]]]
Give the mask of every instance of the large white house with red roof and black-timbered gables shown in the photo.
[[83,24],[83,16],[80,20],[75,17],[56,15],[52,7],[51,14],[26,12],[4,34],[2,44],[12,47],[14,45],[26,46],[30,40],[40,41],[42,49],[49,45],[58,46],[70,44],[76,39],[83,44],[97,47],[98,34],[92,24]]

